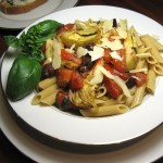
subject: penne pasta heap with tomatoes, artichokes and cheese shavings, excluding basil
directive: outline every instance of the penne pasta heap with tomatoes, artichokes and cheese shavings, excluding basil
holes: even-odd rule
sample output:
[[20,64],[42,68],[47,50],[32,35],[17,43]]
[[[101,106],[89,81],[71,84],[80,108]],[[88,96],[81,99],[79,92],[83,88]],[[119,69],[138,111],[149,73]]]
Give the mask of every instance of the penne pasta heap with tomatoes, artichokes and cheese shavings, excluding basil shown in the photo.
[[42,80],[32,104],[55,104],[84,116],[122,114],[154,93],[163,46],[126,20],[76,20],[42,46]]

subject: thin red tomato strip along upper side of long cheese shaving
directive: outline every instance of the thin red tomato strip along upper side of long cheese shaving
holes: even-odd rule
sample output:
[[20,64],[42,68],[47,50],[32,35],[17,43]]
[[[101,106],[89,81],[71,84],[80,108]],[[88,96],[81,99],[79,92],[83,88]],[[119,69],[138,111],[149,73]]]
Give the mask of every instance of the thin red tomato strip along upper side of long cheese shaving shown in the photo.
[[117,75],[118,77],[121,77],[122,79],[126,80],[128,79],[129,75],[126,73],[121,73],[118,71],[116,71],[113,66],[109,65],[109,64],[104,64],[104,68],[106,71],[109,71],[111,74],[113,75]]

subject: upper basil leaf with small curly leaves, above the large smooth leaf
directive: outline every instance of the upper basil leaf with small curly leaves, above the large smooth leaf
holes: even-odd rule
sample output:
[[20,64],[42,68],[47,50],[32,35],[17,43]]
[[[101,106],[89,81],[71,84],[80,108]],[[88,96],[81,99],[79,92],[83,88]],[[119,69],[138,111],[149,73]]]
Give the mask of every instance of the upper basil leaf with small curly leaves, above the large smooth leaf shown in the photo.
[[23,32],[20,38],[15,36],[4,36],[5,42],[13,48],[21,49],[28,58],[36,59],[39,62],[43,60],[43,53],[40,50],[42,43],[54,36],[61,23],[47,20],[32,26],[27,33]]

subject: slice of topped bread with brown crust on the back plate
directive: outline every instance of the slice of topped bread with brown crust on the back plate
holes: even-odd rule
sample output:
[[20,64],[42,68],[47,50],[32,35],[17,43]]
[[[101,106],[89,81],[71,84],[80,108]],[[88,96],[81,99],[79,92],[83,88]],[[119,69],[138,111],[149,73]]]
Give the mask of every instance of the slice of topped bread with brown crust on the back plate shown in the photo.
[[0,11],[4,14],[21,14],[29,12],[48,0],[1,0]]

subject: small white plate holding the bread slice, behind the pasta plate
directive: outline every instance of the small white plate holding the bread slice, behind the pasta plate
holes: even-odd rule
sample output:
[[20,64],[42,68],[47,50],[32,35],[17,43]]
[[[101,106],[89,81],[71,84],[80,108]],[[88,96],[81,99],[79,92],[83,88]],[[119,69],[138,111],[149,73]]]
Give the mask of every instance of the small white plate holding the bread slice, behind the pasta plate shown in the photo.
[[32,10],[30,12],[16,15],[8,15],[0,12],[0,28],[24,28],[45,15],[74,7],[77,1],[78,0],[48,0],[48,2]]

